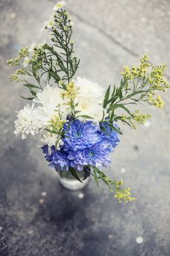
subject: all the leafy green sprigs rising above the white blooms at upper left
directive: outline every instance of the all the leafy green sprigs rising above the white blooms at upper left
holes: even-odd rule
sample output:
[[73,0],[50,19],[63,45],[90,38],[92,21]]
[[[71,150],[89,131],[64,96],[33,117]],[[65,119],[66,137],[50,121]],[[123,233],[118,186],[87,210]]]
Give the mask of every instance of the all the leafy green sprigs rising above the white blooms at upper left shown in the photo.
[[[9,79],[25,83],[31,97],[24,99],[34,99],[37,91],[42,90],[52,78],[66,90],[66,84],[72,80],[80,63],[74,55],[72,20],[66,10],[54,12],[45,29],[50,32],[52,45],[43,42],[31,48],[20,48],[18,57],[7,61],[9,66],[20,67]],[[29,77],[35,82],[28,81]]]

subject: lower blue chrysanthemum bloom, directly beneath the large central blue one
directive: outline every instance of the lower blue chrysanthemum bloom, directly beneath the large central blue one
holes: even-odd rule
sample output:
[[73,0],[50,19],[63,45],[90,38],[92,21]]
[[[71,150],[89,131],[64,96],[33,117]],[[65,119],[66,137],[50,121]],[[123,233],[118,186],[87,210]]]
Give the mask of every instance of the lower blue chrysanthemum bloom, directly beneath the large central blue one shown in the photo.
[[105,141],[96,143],[89,148],[72,151],[69,153],[71,166],[77,170],[83,170],[85,165],[93,165],[101,169],[110,164],[108,143]]

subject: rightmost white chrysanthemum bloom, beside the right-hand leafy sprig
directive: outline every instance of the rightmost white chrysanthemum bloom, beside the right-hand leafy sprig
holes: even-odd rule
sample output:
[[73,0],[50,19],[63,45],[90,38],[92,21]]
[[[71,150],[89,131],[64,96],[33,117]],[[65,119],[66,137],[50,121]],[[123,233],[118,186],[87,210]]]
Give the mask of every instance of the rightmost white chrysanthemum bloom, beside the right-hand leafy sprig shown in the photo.
[[76,102],[80,115],[91,116],[94,121],[100,121],[103,116],[104,88],[80,77],[74,81],[74,86],[78,90]]

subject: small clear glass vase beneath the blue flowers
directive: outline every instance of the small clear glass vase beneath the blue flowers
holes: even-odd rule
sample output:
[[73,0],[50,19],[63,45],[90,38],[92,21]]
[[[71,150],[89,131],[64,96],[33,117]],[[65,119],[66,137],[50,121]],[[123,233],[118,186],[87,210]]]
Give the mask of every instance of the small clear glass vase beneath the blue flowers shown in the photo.
[[[82,180],[84,177],[84,172],[76,171],[77,176]],[[82,182],[77,181],[74,176],[72,176],[72,173],[70,171],[68,172],[61,172],[58,171],[58,180],[60,184],[65,188],[72,191],[83,189],[85,186],[87,186],[88,182],[90,181],[90,176],[88,178],[85,178]]]

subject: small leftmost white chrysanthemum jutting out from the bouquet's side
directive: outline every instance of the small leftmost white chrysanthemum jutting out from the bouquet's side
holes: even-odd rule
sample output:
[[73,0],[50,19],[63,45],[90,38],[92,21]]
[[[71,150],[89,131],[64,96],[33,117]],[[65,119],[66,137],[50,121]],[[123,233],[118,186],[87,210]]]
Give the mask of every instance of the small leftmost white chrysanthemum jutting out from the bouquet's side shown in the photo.
[[21,133],[22,139],[25,139],[29,134],[35,135],[39,133],[42,127],[42,122],[36,118],[36,108],[34,103],[32,106],[26,105],[18,112],[18,119],[15,121],[15,134]]

